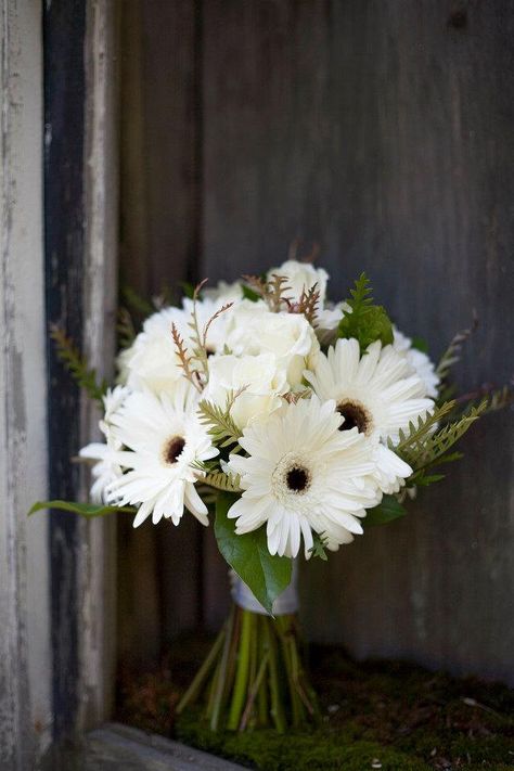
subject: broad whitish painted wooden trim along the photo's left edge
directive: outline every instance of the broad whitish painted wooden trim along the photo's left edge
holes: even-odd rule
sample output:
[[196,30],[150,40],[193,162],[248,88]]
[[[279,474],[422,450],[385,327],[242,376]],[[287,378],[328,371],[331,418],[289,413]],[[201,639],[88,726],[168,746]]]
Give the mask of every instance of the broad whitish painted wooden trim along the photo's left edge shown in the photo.
[[1,3],[0,767],[30,771],[51,741],[42,33],[37,0]]

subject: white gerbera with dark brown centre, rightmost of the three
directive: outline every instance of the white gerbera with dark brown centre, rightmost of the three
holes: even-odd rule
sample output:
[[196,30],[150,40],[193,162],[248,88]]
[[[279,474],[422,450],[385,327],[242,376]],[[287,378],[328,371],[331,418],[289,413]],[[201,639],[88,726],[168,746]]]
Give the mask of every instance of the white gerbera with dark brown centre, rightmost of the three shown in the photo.
[[383,492],[396,492],[412,468],[401,461],[385,444],[398,441],[400,428],[410,421],[434,409],[432,399],[424,397],[422,381],[411,374],[407,359],[393,346],[372,343],[361,357],[356,339],[338,339],[320,354],[312,372],[305,378],[321,399],[334,399],[344,416],[343,431],[357,427],[375,444],[375,479]]

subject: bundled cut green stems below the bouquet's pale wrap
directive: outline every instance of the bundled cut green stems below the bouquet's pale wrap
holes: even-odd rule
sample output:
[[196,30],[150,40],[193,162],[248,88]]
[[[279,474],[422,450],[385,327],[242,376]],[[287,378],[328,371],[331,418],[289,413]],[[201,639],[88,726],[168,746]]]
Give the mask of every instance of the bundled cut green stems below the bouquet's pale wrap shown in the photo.
[[233,604],[177,711],[200,698],[213,731],[274,727],[283,733],[317,721],[296,614],[272,618]]

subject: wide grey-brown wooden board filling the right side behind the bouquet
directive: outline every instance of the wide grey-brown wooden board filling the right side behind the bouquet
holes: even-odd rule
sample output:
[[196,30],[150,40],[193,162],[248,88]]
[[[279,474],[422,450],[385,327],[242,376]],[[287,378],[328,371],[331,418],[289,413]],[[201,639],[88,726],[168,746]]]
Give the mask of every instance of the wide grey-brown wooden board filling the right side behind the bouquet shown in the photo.
[[[203,262],[211,279],[319,242],[335,297],[365,269],[459,380],[511,377],[512,3],[211,0],[203,18]],[[309,565],[312,639],[514,682],[512,413],[412,516]],[[320,596],[323,602],[320,603]]]

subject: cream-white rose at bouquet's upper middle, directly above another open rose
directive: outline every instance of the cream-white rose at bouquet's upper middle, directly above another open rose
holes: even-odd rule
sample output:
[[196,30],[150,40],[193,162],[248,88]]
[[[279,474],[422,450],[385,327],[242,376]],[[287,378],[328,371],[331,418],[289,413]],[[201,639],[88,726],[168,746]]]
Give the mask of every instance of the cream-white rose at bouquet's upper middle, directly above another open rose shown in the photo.
[[306,367],[312,367],[320,349],[305,316],[273,313],[265,303],[242,300],[230,311],[227,347],[235,356],[273,354],[292,387],[301,383]]

